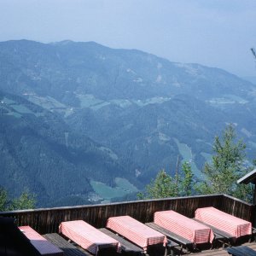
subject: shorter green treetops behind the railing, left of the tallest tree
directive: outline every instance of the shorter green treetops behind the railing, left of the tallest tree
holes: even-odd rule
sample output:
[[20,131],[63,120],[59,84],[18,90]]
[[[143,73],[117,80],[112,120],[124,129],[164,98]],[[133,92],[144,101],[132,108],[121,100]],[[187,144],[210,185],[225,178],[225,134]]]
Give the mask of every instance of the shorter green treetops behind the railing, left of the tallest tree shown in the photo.
[[194,182],[191,166],[188,162],[183,163],[182,171],[182,175],[176,173],[172,177],[165,170],[161,170],[155,179],[146,186],[146,192],[137,195],[138,199],[191,195]]

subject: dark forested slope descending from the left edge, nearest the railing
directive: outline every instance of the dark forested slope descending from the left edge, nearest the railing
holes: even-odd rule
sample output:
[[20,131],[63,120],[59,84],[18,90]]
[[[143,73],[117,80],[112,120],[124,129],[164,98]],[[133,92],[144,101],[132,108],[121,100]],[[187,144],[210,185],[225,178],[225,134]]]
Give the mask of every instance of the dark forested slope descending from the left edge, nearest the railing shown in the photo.
[[89,203],[90,179],[113,184],[119,172],[130,176],[110,149],[20,96],[0,93],[0,134],[1,186],[13,196],[29,188],[38,195],[39,206],[69,197]]

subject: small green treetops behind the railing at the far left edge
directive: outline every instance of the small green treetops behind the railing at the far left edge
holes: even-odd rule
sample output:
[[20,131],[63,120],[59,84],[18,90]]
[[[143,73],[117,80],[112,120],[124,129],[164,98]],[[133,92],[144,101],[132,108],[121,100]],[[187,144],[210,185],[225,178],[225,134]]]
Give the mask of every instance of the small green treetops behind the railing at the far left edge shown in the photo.
[[35,206],[35,195],[32,195],[28,189],[24,189],[20,197],[13,200],[9,199],[5,189],[0,189],[0,212],[33,209]]

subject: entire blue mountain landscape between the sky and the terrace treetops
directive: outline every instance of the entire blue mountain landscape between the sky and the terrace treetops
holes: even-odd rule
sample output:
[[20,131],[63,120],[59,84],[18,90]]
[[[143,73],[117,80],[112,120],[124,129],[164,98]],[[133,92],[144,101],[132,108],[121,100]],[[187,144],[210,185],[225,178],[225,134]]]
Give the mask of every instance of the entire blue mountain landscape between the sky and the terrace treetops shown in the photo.
[[0,61],[0,185],[42,206],[129,196],[178,154],[201,178],[227,123],[254,157],[256,85],[224,70],[72,41],[2,42]]

